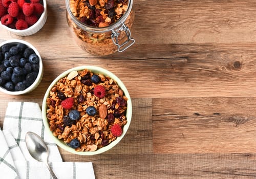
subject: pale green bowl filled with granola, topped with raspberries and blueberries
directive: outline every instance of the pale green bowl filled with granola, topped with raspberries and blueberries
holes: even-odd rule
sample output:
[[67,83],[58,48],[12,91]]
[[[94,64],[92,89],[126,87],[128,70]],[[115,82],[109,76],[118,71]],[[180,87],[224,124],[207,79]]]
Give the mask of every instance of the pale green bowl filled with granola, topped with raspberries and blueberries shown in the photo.
[[110,150],[127,132],[132,102],[122,81],[97,66],[69,69],[48,87],[42,119],[56,144],[75,154]]

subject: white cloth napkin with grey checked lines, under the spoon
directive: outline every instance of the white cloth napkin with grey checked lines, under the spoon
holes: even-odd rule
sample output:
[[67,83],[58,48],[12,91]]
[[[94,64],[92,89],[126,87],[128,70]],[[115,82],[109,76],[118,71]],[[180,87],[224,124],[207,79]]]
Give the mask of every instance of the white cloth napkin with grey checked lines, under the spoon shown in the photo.
[[46,165],[34,160],[27,150],[28,131],[37,133],[46,142],[49,164],[58,178],[95,178],[91,162],[62,162],[56,144],[45,132],[41,109],[32,102],[8,104],[3,131],[0,129],[1,178],[51,178]]

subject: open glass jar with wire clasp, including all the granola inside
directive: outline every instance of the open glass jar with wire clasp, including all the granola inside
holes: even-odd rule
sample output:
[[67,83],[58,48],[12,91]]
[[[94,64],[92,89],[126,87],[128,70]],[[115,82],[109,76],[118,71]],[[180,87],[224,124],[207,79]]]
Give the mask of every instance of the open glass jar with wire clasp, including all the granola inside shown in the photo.
[[78,46],[100,56],[132,46],[132,5],[133,0],[66,0],[68,25]]

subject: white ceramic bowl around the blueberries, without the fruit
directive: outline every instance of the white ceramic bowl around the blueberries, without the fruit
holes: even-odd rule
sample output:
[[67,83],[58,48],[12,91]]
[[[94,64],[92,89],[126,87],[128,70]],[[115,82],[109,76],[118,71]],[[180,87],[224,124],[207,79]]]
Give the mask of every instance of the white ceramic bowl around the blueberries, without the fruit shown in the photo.
[[6,41],[4,41],[0,44],[0,48],[6,43],[13,43],[13,44],[24,43],[28,47],[33,49],[34,52],[36,53],[36,55],[38,55],[38,57],[39,57],[39,72],[38,72],[38,75],[37,75],[35,81],[29,87],[27,87],[24,91],[11,92],[11,91],[7,91],[2,86],[0,86],[0,91],[3,92],[3,93],[9,94],[9,95],[23,95],[23,94],[26,94],[26,93],[29,93],[29,92],[33,91],[39,85],[39,83],[41,82],[42,75],[43,75],[43,72],[44,72],[44,67],[42,66],[42,59],[41,59],[41,56],[40,56],[39,52],[36,50],[36,48],[34,46],[32,46],[31,43],[29,43],[27,41],[24,41],[24,40],[19,40],[19,39],[6,40]]

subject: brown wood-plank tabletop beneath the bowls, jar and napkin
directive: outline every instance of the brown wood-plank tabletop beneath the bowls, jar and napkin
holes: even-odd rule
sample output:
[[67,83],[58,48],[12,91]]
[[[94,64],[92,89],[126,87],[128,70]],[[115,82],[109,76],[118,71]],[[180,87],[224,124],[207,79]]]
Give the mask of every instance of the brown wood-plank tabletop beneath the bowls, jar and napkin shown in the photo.
[[134,46],[98,57],[72,40],[64,1],[48,0],[38,33],[0,29],[41,54],[44,77],[30,94],[0,94],[0,125],[10,101],[41,105],[51,81],[79,65],[116,74],[133,101],[124,139],[112,150],[64,161],[92,161],[96,178],[256,177],[255,1],[134,1]]

